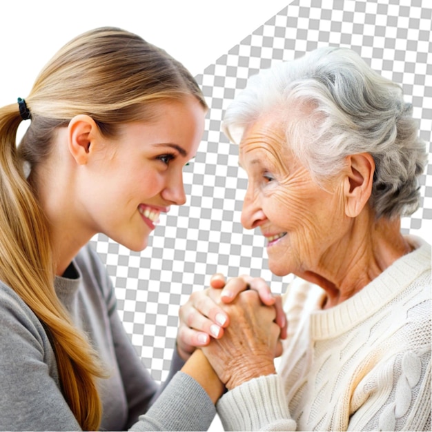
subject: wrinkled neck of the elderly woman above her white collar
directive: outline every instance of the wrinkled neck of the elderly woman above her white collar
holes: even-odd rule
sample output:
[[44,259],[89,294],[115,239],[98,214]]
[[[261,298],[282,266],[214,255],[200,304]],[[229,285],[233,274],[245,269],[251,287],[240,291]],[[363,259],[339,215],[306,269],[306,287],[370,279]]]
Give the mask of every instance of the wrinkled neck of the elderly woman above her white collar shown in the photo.
[[375,220],[367,210],[351,222],[344,236],[328,248],[303,279],[326,291],[323,308],[331,308],[358,293],[396,259],[412,248],[400,233],[400,219]]

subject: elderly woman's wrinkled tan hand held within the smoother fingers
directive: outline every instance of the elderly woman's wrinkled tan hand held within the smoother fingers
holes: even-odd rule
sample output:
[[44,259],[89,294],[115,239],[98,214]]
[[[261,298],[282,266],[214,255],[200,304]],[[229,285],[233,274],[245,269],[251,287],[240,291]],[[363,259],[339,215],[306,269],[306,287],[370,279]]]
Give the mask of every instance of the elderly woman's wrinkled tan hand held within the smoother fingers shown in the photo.
[[230,325],[224,337],[211,340],[202,351],[226,388],[275,373],[274,357],[282,353],[276,309],[262,304],[252,290],[221,306],[230,317]]

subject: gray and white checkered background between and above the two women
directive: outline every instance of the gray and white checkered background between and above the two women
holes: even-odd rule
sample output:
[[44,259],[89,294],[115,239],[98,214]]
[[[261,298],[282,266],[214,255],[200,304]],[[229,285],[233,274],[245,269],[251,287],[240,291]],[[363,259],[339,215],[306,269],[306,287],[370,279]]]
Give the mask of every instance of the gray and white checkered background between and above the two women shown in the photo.
[[[162,218],[142,253],[104,235],[92,239],[115,284],[121,320],[155,380],[164,380],[168,372],[179,305],[204,288],[210,275],[261,275],[275,293],[290,280],[271,275],[263,237],[240,224],[246,177],[237,167],[237,147],[220,126],[246,79],[318,46],[353,48],[375,70],[402,84],[431,152],[431,26],[432,5],[426,0],[296,0],[197,76],[210,112],[199,153],[185,168],[188,203]],[[421,190],[422,206],[403,220],[404,233],[416,233],[422,221],[432,219],[431,163]]]

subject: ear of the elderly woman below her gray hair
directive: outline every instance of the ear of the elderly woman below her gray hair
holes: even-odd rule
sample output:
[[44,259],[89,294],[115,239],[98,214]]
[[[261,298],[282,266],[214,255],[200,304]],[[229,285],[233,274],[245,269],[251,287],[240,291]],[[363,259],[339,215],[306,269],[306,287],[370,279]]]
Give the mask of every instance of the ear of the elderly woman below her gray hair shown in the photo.
[[344,177],[345,214],[357,217],[362,212],[372,193],[375,161],[369,153],[346,157]]

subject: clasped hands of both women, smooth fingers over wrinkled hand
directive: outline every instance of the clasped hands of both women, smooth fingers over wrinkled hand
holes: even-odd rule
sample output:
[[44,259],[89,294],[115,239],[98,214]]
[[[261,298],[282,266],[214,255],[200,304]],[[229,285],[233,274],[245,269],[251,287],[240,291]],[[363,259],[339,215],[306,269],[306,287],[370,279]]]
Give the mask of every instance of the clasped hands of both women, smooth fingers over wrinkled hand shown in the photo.
[[228,389],[275,372],[273,359],[282,353],[286,317],[281,297],[271,293],[264,279],[242,276],[225,282],[214,275],[210,288],[193,293],[181,306],[179,317],[179,355],[187,360],[202,347]]

